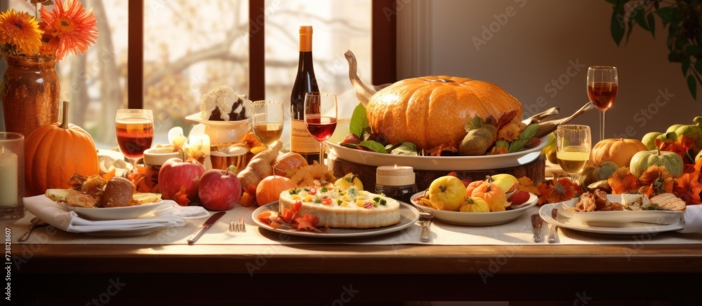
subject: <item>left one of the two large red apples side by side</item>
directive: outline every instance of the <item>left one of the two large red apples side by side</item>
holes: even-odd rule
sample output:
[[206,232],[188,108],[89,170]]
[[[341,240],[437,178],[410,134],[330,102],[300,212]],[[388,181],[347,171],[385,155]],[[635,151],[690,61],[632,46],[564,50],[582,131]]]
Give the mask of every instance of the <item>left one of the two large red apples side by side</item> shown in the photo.
[[187,198],[194,200],[197,197],[197,184],[204,173],[204,165],[196,160],[188,162],[183,162],[180,158],[166,160],[159,170],[161,197],[165,200],[176,200],[176,193],[184,188]]

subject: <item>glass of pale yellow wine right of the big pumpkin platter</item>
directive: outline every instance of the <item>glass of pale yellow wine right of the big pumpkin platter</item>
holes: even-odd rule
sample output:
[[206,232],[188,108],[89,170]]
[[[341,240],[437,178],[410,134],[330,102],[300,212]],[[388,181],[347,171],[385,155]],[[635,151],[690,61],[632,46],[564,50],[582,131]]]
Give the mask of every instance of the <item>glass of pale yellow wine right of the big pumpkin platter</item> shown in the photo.
[[556,128],[556,158],[558,165],[571,179],[588,164],[592,151],[589,125],[559,125]]

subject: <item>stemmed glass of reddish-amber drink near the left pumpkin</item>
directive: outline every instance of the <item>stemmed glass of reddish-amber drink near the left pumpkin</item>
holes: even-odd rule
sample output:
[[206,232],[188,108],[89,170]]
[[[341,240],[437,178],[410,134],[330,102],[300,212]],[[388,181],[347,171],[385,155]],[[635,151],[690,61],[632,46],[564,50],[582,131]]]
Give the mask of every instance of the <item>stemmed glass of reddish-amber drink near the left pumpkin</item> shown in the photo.
[[118,109],[114,120],[117,144],[136,169],[136,162],[154,141],[154,114],[150,109]]

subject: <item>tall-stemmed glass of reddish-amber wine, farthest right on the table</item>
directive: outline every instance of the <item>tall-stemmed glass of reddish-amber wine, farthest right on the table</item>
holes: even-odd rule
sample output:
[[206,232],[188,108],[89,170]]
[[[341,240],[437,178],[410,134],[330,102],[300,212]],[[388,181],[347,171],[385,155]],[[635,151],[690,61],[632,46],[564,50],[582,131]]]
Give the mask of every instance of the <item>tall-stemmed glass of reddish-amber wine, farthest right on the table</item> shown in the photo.
[[604,112],[614,104],[618,86],[616,67],[592,66],[588,68],[588,96],[595,107],[600,110],[600,140],[604,139]]

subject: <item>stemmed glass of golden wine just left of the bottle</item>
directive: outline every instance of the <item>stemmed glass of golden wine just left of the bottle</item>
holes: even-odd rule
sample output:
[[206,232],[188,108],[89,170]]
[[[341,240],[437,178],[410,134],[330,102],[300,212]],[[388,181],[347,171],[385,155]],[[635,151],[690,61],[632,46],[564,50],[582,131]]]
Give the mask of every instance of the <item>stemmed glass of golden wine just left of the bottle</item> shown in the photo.
[[253,134],[266,148],[283,134],[283,102],[260,100],[251,104]]

